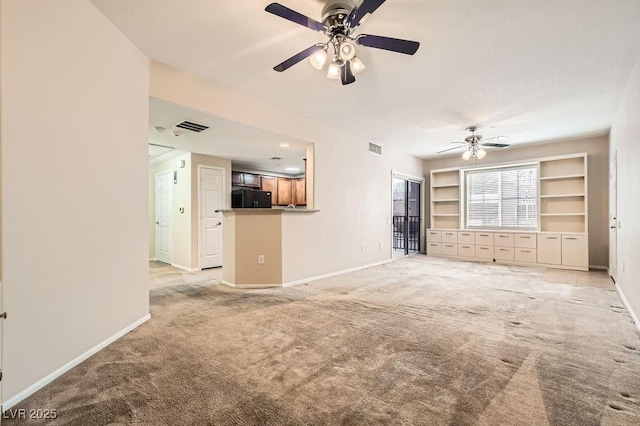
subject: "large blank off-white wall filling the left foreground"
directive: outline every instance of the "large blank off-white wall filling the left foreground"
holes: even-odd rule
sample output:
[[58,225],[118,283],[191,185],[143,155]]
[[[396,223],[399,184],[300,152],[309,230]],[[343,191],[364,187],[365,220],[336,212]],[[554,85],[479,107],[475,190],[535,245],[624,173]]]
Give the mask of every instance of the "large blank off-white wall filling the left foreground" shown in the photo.
[[3,402],[149,312],[148,60],[90,3],[2,0]]

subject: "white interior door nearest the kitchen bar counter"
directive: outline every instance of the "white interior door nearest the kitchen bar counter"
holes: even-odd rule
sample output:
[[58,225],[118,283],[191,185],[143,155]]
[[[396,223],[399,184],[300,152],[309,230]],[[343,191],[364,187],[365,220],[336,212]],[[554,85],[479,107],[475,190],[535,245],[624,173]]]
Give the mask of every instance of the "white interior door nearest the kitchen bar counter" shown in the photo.
[[222,169],[201,167],[200,171],[200,268],[222,266],[222,213],[224,174]]

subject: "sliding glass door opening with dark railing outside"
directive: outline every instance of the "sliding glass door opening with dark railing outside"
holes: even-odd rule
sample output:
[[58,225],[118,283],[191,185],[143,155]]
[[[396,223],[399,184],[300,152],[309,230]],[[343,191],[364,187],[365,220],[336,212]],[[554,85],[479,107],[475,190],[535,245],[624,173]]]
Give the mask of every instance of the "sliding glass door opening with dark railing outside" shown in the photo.
[[421,206],[423,182],[394,174],[393,257],[419,253],[421,249]]

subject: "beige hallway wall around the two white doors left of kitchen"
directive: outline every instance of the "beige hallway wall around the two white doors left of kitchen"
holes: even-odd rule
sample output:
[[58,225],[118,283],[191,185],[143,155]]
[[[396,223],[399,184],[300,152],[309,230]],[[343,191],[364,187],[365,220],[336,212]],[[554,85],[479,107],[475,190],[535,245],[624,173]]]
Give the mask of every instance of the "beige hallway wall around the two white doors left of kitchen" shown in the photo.
[[[177,162],[184,160],[185,167]],[[166,171],[178,172],[178,183],[173,185],[173,264],[193,269],[198,267],[198,165],[225,170],[225,206],[231,205],[231,160],[207,155],[185,153],[170,160],[149,166],[149,259],[156,257],[155,236],[155,179]],[[180,208],[184,207],[184,213]]]

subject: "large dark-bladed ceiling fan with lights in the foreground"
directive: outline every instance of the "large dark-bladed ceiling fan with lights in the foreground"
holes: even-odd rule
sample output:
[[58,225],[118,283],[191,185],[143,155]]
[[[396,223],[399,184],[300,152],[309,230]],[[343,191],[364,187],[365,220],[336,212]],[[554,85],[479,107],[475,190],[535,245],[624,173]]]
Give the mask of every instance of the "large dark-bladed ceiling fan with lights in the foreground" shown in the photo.
[[385,0],[363,0],[354,7],[349,3],[333,1],[324,7],[322,22],[311,19],[279,3],[271,3],[265,8],[267,12],[324,33],[329,37],[326,43],[314,44],[276,65],[273,69],[283,72],[310,57],[311,65],[317,70],[322,70],[327,62],[329,46],[331,46],[333,48],[333,59],[329,65],[327,77],[335,80],[340,79],[342,84],[346,85],[355,82],[355,76],[366,68],[362,60],[356,56],[356,44],[413,55],[420,47],[420,43],[417,41],[369,34],[354,35],[358,25],[362,24],[384,2]]

